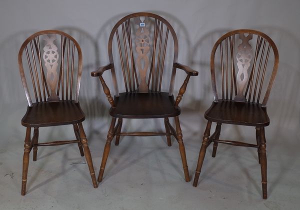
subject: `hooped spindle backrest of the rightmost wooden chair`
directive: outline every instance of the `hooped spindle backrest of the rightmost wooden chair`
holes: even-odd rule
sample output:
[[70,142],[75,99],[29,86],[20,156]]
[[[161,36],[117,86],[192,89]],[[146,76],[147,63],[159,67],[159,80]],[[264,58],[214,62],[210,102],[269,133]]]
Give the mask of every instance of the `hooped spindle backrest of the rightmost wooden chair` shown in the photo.
[[[266,34],[239,29],[222,35],[210,56],[214,101],[218,101],[217,89],[223,100],[252,103],[260,103],[264,93],[261,105],[265,106],[277,67],[277,47]],[[219,86],[216,80],[221,80]]]

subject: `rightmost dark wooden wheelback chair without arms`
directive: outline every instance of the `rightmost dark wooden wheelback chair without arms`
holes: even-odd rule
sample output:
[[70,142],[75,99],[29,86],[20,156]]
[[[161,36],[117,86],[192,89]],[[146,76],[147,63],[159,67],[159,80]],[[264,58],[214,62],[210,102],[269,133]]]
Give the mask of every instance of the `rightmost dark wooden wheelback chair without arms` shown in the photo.
[[[269,36],[262,32],[250,29],[233,30],[216,41],[210,57],[214,101],[204,114],[208,121],[199,152],[194,186],[198,182],[206,148],[211,142],[213,142],[213,157],[218,143],[249,146],[257,148],[258,162],[261,167],[262,197],[264,199],[267,197],[264,127],[269,124],[266,102],[275,79],[277,66],[276,45]],[[215,68],[219,71],[216,72]],[[220,80],[219,86],[216,85],[217,79]],[[220,99],[217,89],[221,90]],[[264,97],[262,97],[263,93]],[[216,128],[210,135],[212,122],[216,122]],[[254,126],[256,144],[220,140],[222,123]]]

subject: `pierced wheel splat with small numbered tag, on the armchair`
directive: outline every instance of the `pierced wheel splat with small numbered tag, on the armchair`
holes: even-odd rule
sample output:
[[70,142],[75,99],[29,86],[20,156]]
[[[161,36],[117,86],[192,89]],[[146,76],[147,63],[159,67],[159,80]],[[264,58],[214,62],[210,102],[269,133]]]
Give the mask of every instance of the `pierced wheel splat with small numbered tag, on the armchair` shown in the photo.
[[150,37],[149,30],[146,26],[147,19],[145,17],[136,17],[135,23],[138,25],[135,37],[135,49],[138,54],[136,65],[138,68],[140,82],[138,84],[138,92],[148,92],[148,85],[146,83],[146,72],[149,66],[149,52]]

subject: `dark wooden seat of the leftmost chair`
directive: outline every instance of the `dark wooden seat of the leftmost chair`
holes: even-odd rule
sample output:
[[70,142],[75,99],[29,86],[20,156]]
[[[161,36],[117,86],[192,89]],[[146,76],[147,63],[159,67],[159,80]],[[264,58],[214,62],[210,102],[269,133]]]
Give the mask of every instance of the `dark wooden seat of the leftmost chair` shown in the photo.
[[75,103],[74,100],[62,100],[32,103],[31,107],[27,107],[21,123],[26,127],[43,127],[77,124],[84,118],[79,103]]

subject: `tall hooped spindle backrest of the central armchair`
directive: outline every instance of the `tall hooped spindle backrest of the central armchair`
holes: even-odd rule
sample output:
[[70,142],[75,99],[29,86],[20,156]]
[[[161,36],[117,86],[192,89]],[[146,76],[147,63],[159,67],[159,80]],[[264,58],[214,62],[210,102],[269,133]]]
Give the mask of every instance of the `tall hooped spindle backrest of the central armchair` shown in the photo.
[[[167,42],[173,40],[172,47]],[[113,43],[117,47],[113,47]],[[172,48],[172,49],[170,49]],[[161,90],[163,70],[167,51],[172,51],[173,62],[177,61],[178,42],[174,29],[161,16],[148,12],[129,14],[120,19],[112,28],[108,40],[108,56],[113,62],[113,50],[120,61],[120,67],[112,70],[115,95],[118,95],[115,70],[122,71],[122,83],[126,92],[148,92]],[[115,63],[114,63],[115,66]],[[173,67],[170,79],[173,81]],[[123,86],[122,86],[123,87]],[[173,82],[170,82],[169,93],[172,93]]]

